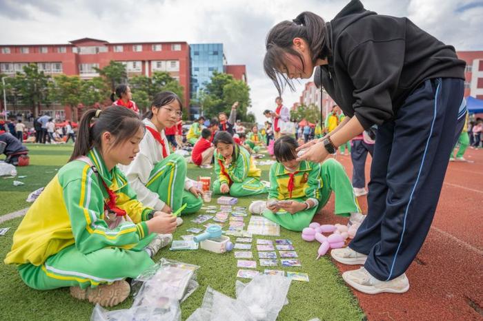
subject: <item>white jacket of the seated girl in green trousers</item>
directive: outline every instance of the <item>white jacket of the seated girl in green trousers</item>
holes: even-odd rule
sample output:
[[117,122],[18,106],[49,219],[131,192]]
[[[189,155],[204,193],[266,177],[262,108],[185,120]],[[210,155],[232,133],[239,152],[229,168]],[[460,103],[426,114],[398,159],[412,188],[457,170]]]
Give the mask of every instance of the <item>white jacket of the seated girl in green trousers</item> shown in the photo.
[[[151,123],[148,118],[144,118],[143,123],[144,125],[157,130],[156,126]],[[164,145],[166,146],[166,152],[169,155],[170,149],[168,138],[166,138],[164,130],[161,131],[160,134],[161,139],[164,141]],[[119,168],[124,172],[124,174],[126,174],[130,186],[136,191],[139,201],[144,205],[157,210],[162,209],[165,203],[159,199],[159,195],[157,193],[148,189],[146,184],[148,183],[152,169],[154,169],[155,165],[163,159],[163,149],[161,144],[156,141],[155,137],[152,136],[149,130],[146,130],[144,138],[141,140],[141,143],[139,143],[139,153],[137,153],[134,161],[127,166],[119,165]],[[188,190],[194,185],[195,181],[186,178],[184,189]]]

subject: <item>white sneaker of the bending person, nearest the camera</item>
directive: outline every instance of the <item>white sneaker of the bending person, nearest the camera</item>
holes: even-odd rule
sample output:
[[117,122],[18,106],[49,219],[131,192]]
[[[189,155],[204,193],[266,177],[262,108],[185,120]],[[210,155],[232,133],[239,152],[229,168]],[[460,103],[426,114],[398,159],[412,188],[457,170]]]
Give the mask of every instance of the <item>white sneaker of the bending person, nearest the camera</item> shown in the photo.
[[371,273],[364,267],[361,267],[358,270],[342,273],[342,278],[357,291],[368,294],[404,293],[409,289],[409,280],[405,273],[391,281],[380,281],[371,276]]

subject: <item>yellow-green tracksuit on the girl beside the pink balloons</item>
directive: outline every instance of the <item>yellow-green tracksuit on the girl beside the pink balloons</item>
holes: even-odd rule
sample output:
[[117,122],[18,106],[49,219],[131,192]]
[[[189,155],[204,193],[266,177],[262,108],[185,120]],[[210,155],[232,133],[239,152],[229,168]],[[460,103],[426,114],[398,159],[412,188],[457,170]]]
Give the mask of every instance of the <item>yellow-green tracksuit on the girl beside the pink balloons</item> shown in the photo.
[[[293,176],[293,184],[290,184],[290,176]],[[291,196],[289,186],[293,186]],[[351,213],[360,211],[351,180],[347,177],[344,167],[335,159],[329,158],[322,165],[302,161],[299,169],[293,173],[288,172],[282,163],[275,163],[270,168],[268,200],[312,200],[315,206],[295,214],[286,211],[274,214],[266,209],[263,215],[286,229],[302,231],[312,222],[313,216],[326,205],[332,191],[335,193],[336,215],[350,216]]]

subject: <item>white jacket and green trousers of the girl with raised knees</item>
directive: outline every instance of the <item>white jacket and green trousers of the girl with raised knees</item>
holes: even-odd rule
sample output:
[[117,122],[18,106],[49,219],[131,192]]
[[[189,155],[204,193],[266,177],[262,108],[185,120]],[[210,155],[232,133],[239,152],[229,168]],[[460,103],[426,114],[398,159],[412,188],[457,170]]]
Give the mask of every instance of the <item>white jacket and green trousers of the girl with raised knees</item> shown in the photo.
[[[149,119],[145,118],[143,122],[146,126],[156,129]],[[165,146],[168,147],[164,131],[160,134]],[[196,213],[203,205],[203,200],[188,191],[195,185],[195,181],[186,177],[186,160],[179,154],[170,154],[169,148],[166,149],[168,156],[164,158],[161,145],[151,132],[146,130],[144,138],[139,143],[139,153],[135,160],[130,165],[120,165],[119,168],[144,205],[161,210],[168,204],[172,211],[176,211],[186,203],[188,206],[181,214]]]

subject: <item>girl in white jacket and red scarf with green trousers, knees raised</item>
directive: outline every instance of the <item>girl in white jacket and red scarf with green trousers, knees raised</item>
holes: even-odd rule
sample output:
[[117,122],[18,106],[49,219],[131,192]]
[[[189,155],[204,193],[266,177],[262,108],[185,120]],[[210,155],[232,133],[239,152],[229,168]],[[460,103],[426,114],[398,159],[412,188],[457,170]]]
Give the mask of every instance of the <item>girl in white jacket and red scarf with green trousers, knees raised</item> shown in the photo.
[[[174,92],[159,92],[151,108],[144,114],[146,135],[139,144],[139,154],[121,169],[142,203],[170,213],[181,205],[181,214],[197,212],[203,205],[201,190],[186,177],[187,164],[183,156],[171,154],[165,128],[172,127],[182,115],[181,100]],[[178,225],[183,220],[177,218]]]

